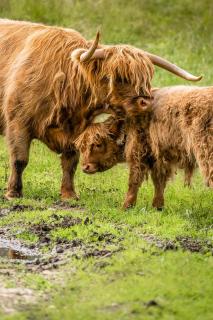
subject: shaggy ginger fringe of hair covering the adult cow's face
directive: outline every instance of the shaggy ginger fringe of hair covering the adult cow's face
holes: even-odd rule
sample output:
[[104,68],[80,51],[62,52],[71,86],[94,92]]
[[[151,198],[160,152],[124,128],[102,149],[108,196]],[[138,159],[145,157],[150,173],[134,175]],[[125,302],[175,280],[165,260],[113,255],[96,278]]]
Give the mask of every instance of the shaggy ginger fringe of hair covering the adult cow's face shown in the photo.
[[143,51],[127,45],[103,46],[103,48],[106,49],[104,60],[91,60],[80,65],[86,80],[90,83],[93,102],[98,99],[97,89],[105,79],[109,80],[109,96],[116,90],[118,81],[128,82],[138,95],[143,92],[144,95],[151,96],[154,68]]

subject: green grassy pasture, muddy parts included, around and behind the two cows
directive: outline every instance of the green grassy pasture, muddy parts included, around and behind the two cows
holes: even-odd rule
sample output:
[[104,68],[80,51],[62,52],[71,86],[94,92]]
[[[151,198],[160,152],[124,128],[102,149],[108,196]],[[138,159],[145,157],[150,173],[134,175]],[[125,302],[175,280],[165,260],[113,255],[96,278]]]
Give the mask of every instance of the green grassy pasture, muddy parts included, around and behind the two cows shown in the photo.
[[[212,83],[212,10],[210,0],[0,1],[1,17],[87,38],[99,28],[104,43],[129,43],[203,74],[200,85]],[[154,86],[173,84],[187,83],[156,70]],[[199,172],[191,189],[181,172],[169,183],[164,211],[152,209],[148,181],[124,212],[125,165],[93,176],[79,168],[80,201],[63,204],[60,159],[34,141],[24,198],[8,203],[3,138],[0,145],[0,244],[13,239],[39,255],[33,263],[0,258],[0,319],[212,319],[213,193]]]

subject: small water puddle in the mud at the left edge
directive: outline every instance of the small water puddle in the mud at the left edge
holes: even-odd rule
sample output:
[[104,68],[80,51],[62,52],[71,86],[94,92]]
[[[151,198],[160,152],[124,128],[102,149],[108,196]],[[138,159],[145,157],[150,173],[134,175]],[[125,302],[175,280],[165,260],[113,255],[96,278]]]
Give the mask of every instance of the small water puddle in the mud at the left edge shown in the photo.
[[38,251],[22,246],[18,241],[0,238],[0,257],[33,262],[39,258]]

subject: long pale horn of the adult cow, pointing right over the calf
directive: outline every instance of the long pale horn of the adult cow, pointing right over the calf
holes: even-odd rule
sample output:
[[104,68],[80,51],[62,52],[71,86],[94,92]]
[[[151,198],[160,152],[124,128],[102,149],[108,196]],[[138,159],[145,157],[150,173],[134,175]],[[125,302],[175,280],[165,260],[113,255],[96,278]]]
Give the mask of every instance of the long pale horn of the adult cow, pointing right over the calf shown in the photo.
[[149,57],[149,59],[152,61],[153,64],[155,64],[158,67],[161,67],[163,69],[166,69],[174,74],[176,74],[177,76],[185,79],[185,80],[189,80],[189,81],[199,81],[202,79],[202,76],[196,77],[193,76],[191,73],[179,68],[178,66],[176,66],[175,64],[159,57],[156,56],[152,53],[149,52],[145,52],[145,54]]

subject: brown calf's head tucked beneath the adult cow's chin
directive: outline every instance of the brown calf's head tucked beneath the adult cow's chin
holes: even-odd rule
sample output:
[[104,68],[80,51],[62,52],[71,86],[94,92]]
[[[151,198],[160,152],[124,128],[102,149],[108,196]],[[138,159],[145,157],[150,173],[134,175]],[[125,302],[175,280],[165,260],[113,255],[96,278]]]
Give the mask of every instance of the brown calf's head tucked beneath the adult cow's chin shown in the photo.
[[93,174],[124,161],[124,121],[110,114],[96,116],[93,123],[76,140],[81,154],[81,167]]

